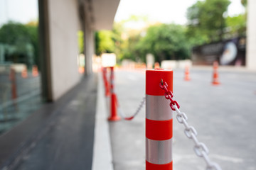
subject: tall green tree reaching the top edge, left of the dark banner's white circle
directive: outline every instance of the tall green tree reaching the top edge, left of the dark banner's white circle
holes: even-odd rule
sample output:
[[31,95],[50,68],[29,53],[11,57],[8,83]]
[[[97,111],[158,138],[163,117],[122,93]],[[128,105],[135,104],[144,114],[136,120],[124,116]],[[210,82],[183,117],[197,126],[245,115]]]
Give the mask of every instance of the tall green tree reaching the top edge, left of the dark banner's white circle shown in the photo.
[[[206,42],[222,40],[225,28],[223,14],[229,0],[197,1],[187,10],[188,35],[202,35]],[[201,42],[201,41],[199,41]]]

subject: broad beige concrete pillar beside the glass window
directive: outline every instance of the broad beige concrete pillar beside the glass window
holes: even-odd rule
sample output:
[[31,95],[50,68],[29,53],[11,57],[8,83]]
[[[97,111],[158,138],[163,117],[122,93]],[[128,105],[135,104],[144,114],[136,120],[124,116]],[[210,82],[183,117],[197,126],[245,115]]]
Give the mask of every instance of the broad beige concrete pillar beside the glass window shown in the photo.
[[77,64],[79,22],[77,0],[48,0],[50,86],[53,101],[81,79]]

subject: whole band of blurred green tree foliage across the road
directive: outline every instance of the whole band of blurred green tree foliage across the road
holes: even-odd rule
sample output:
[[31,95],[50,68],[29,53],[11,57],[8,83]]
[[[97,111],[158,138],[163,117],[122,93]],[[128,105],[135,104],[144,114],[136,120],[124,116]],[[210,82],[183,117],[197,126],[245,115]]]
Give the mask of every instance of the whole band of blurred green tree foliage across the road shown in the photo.
[[[241,3],[246,6],[247,1]],[[97,55],[114,52],[119,60],[137,62],[145,61],[147,53],[153,54],[157,62],[190,58],[191,47],[195,45],[230,38],[233,34],[245,35],[246,14],[225,18],[229,4],[230,0],[197,1],[187,9],[187,26],[162,23],[152,26],[146,17],[131,16],[114,23],[112,32],[96,33]],[[149,27],[136,28],[143,24]]]

